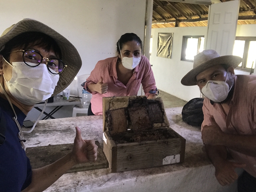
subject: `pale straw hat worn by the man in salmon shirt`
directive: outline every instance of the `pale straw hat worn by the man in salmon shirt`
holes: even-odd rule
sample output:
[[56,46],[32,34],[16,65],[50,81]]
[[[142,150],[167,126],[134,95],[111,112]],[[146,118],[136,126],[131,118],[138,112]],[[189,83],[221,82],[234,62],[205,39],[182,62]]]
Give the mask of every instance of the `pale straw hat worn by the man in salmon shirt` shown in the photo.
[[194,56],[193,69],[190,70],[182,79],[183,85],[196,85],[196,75],[214,65],[226,64],[236,68],[242,62],[242,58],[234,55],[220,56],[212,49],[204,50]]

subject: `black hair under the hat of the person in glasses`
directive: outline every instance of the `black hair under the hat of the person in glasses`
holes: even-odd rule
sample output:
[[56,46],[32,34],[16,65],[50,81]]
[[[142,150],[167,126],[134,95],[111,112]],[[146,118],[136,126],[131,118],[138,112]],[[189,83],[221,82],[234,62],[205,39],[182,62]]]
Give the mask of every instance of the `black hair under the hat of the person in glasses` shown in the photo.
[[59,59],[61,59],[61,50],[56,41],[50,36],[41,32],[25,32],[15,36],[8,41],[4,49],[0,52],[5,59],[10,59],[10,51],[12,49],[28,49],[33,46],[39,46],[45,51],[53,50]]

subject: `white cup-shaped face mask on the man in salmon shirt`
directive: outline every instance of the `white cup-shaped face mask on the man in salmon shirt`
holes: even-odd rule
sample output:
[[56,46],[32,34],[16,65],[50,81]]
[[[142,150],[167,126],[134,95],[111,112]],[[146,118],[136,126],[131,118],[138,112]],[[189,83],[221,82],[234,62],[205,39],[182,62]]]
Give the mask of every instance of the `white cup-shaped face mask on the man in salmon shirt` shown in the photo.
[[228,97],[228,93],[232,88],[232,86],[229,88],[228,83],[226,83],[227,78],[228,73],[225,81],[209,80],[202,88],[202,94],[216,103],[224,101]]

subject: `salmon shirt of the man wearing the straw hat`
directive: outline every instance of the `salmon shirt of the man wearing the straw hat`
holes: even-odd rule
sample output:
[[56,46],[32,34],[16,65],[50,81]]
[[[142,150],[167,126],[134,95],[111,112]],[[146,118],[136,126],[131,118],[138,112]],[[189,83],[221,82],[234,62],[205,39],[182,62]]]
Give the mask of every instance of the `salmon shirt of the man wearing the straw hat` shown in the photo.
[[[210,103],[204,99],[203,105],[204,125],[211,125],[209,117],[214,116],[216,123],[224,133],[234,135],[256,135],[256,76],[236,75],[233,98],[229,104],[226,115],[219,103]],[[256,146],[255,146],[256,150]],[[244,170],[256,177],[256,157],[240,152],[228,151],[237,162],[246,164]]]

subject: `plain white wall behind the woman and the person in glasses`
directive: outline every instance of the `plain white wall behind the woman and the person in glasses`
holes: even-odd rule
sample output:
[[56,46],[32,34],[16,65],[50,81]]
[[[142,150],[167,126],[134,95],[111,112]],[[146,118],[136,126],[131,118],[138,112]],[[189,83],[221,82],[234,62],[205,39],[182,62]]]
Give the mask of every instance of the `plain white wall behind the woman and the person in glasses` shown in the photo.
[[[134,32],[144,40],[145,12],[146,0],[0,0],[0,34],[34,18],[70,40],[82,58],[78,75],[90,74],[98,60],[115,56],[122,34]],[[70,89],[77,93],[75,81]]]

